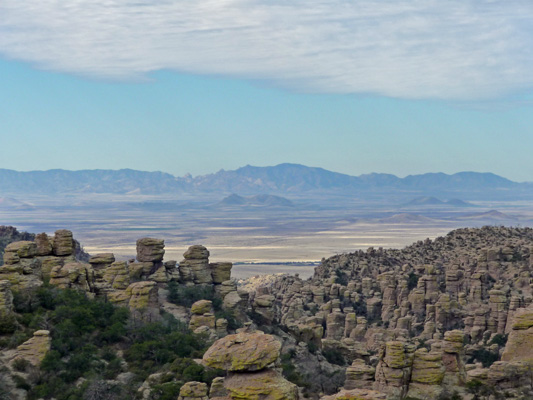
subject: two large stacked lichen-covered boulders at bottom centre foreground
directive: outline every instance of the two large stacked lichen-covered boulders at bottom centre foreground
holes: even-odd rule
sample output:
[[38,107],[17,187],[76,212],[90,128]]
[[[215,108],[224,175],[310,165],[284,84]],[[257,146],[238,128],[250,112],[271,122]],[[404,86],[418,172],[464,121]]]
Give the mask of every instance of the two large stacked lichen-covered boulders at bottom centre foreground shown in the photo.
[[205,364],[228,371],[229,399],[297,400],[298,388],[274,369],[281,343],[262,332],[242,331],[217,340],[204,354]]

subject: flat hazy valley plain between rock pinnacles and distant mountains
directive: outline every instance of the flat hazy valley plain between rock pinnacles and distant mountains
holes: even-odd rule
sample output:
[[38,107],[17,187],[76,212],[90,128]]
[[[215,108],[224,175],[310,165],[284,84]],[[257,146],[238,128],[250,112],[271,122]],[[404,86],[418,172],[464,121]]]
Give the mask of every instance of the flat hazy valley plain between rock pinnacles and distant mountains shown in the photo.
[[[27,196],[0,204],[0,221],[28,232],[74,232],[91,254],[135,256],[141,237],[165,239],[168,259],[181,260],[203,244],[214,261],[237,263],[234,276],[300,273],[310,276],[324,257],[368,247],[402,248],[452,229],[483,225],[530,225],[528,202],[433,204],[432,198],[361,200],[290,197],[290,206],[226,204],[223,195],[179,197],[83,194]],[[428,204],[429,203],[429,204]],[[301,263],[304,263],[303,265]]]

